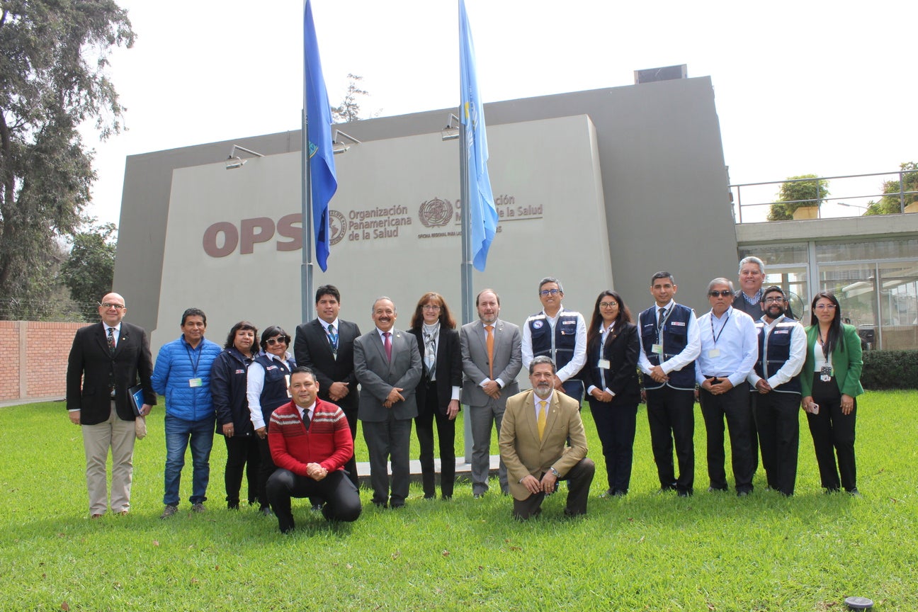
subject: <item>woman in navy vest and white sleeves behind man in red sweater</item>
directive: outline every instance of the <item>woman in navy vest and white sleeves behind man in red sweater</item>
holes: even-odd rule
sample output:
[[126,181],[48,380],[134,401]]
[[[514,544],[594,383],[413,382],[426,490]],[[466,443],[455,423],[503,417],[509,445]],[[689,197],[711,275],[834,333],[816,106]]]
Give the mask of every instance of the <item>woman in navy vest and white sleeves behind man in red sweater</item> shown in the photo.
[[271,413],[280,406],[290,401],[290,371],[297,367],[293,356],[287,352],[290,346],[290,335],[276,325],[269,326],[262,332],[262,352],[249,366],[248,391],[249,414],[252,418],[252,428],[258,437],[258,449],[262,455],[262,469],[259,471],[258,497],[264,500],[262,513],[271,514],[268,506],[268,496],[264,492],[264,485],[268,478],[277,469],[271,459],[271,449],[268,447],[268,426],[271,422]]

